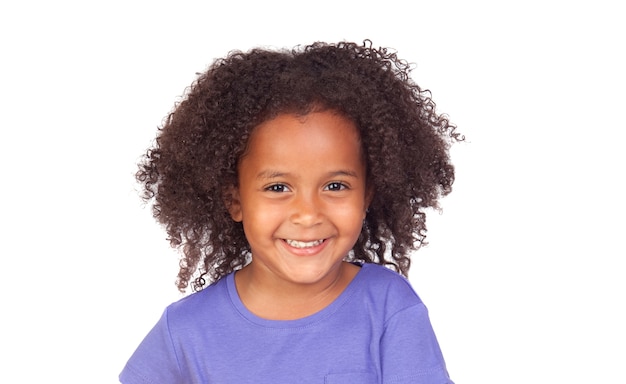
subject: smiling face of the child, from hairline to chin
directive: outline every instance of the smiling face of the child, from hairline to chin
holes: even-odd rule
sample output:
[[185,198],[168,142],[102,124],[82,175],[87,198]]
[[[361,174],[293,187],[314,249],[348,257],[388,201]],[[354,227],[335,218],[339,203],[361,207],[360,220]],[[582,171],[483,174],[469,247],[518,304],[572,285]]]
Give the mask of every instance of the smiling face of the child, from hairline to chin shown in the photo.
[[340,115],[282,114],[255,128],[230,208],[252,250],[247,268],[268,281],[337,278],[365,218],[365,177],[357,129]]

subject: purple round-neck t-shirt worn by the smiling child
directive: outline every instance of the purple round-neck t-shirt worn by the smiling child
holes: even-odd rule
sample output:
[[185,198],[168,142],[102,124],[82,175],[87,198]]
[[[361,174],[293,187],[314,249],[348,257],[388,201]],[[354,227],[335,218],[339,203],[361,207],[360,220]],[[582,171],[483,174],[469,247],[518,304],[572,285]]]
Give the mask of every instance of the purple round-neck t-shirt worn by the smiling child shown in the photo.
[[323,310],[298,320],[248,311],[234,274],[170,305],[123,384],[449,384],[428,312],[397,273],[364,264]]

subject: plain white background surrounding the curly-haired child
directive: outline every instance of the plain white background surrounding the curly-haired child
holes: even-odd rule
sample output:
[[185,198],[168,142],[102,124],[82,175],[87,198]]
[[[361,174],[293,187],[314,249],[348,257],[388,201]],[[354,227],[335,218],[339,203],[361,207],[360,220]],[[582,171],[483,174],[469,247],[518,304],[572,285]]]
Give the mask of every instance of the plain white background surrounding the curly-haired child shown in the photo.
[[452,378],[626,383],[617,1],[7,3],[0,382],[114,383],[180,297],[133,172],[196,72],[370,38],[468,138],[411,272]]

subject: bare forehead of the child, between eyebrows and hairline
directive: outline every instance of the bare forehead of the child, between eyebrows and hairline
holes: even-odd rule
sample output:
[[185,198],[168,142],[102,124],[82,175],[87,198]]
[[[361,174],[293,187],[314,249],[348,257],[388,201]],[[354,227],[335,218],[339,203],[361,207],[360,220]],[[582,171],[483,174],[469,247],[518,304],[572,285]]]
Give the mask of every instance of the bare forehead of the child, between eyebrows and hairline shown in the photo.
[[240,165],[253,165],[252,161],[309,168],[330,163],[357,167],[363,163],[356,125],[333,111],[280,114],[260,124],[250,136]]

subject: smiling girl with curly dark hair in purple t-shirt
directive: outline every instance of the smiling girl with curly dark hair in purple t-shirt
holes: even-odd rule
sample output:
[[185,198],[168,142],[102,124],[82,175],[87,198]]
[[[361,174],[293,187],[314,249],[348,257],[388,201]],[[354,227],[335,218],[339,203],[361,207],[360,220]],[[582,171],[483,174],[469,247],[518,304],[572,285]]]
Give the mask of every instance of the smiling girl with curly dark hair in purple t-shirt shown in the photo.
[[462,138],[409,72],[366,41],[200,75],[137,173],[196,292],[122,383],[452,383],[405,277]]

